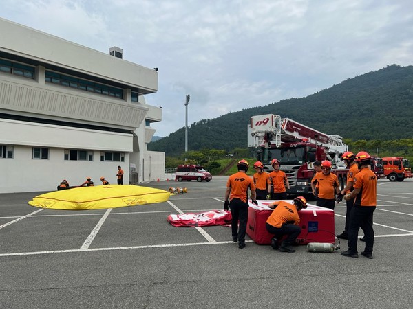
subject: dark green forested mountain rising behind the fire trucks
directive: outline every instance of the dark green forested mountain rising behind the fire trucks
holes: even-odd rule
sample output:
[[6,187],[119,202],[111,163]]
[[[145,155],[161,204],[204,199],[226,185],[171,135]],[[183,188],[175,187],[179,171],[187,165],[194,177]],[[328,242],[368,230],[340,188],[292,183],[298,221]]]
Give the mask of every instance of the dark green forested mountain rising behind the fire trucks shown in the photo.
[[[188,128],[189,150],[246,148],[247,125],[253,115],[275,114],[323,133],[343,138],[410,139],[413,137],[413,66],[388,65],[349,78],[305,98],[290,98],[243,109]],[[166,155],[184,152],[184,128],[148,144]]]

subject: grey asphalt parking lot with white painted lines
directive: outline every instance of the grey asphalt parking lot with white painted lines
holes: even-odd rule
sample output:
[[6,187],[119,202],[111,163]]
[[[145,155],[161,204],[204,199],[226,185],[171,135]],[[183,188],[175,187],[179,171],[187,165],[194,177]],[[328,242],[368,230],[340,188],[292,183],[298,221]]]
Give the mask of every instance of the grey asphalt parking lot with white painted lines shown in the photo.
[[[413,179],[379,181],[372,260],[341,256],[346,241],[282,253],[247,237],[238,249],[229,227],[167,222],[222,209],[226,179],[144,183],[188,192],[88,211],[27,204],[43,192],[0,194],[0,308],[412,308]],[[345,213],[337,205],[337,234]]]

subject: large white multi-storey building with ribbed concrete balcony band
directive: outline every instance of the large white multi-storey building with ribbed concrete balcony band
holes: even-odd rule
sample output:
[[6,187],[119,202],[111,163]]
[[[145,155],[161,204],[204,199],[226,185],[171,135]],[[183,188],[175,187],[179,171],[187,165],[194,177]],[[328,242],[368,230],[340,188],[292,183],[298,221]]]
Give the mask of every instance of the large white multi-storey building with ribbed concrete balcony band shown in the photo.
[[0,18],[0,193],[52,191],[87,176],[163,178],[148,152],[162,109],[145,102],[158,72]]

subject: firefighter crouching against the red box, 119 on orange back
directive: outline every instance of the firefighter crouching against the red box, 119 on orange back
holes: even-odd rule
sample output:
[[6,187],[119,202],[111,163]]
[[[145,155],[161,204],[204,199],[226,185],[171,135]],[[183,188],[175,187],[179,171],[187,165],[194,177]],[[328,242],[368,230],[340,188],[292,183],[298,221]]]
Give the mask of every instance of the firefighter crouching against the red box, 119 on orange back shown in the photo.
[[[274,209],[266,221],[268,233],[274,235],[271,240],[271,247],[282,252],[295,252],[295,249],[291,246],[301,233],[298,211],[307,208],[306,199],[298,196],[294,198],[293,204],[286,201],[277,201],[268,205],[268,207]],[[281,242],[283,236],[287,237]],[[280,242],[281,244],[279,244]]]

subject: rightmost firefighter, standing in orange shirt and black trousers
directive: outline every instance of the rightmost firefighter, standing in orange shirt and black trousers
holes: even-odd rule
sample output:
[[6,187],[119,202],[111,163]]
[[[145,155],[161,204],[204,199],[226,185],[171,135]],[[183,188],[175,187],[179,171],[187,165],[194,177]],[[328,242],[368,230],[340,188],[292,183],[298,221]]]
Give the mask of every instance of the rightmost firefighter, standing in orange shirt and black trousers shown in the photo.
[[370,155],[361,151],[357,153],[354,161],[359,165],[359,170],[354,179],[352,192],[346,194],[344,199],[350,201],[354,198],[354,205],[350,214],[350,226],[348,227],[348,250],[341,255],[358,258],[357,237],[359,229],[364,232],[366,247],[361,255],[372,259],[374,244],[373,213],[377,205],[377,176],[370,170]]

